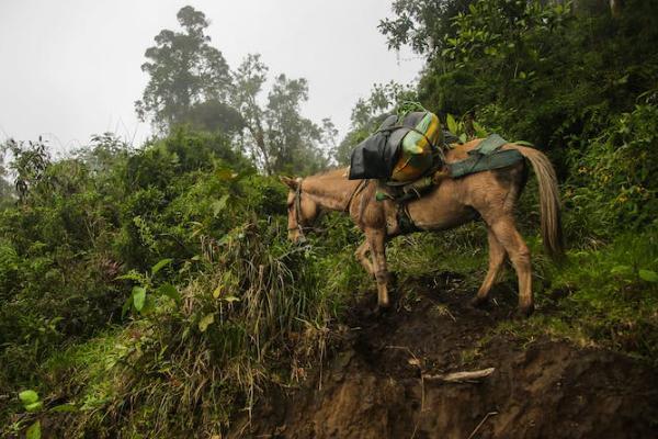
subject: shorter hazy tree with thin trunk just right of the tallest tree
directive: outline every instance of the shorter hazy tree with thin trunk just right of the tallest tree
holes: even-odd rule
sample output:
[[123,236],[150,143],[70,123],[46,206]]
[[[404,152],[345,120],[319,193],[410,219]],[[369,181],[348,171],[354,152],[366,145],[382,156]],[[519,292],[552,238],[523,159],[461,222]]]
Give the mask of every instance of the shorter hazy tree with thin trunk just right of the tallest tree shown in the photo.
[[245,121],[246,145],[257,165],[266,173],[308,173],[327,165],[320,148],[329,145],[336,128],[329,120],[320,127],[300,113],[308,100],[306,79],[279,75],[268,93],[266,104],[259,102],[268,67],[259,55],[248,55],[234,74],[231,104]]

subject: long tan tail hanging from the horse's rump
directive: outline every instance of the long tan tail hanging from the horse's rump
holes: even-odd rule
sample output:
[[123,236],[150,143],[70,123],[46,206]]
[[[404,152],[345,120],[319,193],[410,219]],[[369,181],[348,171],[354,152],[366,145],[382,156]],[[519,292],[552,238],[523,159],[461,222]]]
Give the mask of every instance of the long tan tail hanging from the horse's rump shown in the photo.
[[555,169],[542,151],[521,145],[508,145],[525,157],[537,176],[540,183],[540,211],[542,213],[542,239],[544,248],[553,259],[564,256],[564,240],[560,219],[559,190]]

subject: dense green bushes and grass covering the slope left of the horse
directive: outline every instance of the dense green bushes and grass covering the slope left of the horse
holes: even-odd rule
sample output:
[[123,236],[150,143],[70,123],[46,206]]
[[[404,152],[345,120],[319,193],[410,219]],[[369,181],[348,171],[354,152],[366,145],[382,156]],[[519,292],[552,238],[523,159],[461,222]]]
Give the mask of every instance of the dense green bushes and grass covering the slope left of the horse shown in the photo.
[[[45,418],[94,437],[224,428],[324,354],[364,279],[344,223],[329,247],[291,247],[285,187],[223,134],[179,128],[137,150],[94,136],[39,172],[0,211],[0,383],[45,395],[38,413],[0,409],[7,434]],[[78,358],[98,337],[104,350]]]

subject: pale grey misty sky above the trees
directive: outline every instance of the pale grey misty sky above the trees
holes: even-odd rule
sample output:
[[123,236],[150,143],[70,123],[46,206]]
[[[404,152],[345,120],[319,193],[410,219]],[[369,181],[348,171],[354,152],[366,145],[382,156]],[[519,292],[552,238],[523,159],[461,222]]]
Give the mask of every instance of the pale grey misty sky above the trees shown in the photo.
[[144,52],[160,30],[179,29],[186,4],[209,19],[231,68],[260,53],[271,77],[308,79],[305,115],[331,117],[341,135],[374,82],[407,83],[422,66],[386,48],[376,26],[390,0],[0,0],[0,140],[43,135],[68,151],[110,131],[138,145],[150,132],[134,111]]

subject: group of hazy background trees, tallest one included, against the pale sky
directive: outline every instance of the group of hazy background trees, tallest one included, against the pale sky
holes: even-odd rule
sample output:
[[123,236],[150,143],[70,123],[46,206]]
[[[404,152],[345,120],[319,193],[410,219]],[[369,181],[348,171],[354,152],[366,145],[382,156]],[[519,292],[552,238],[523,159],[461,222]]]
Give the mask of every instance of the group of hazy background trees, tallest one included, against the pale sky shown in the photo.
[[302,115],[300,105],[308,100],[306,79],[277,75],[263,104],[268,67],[260,56],[248,55],[231,71],[211,45],[204,13],[184,7],[177,16],[184,32],[162,30],[146,50],[141,69],[149,82],[135,104],[139,117],[151,120],[160,135],[189,125],[238,138],[268,175],[325,168],[336,128],[328,119],[318,125]]

